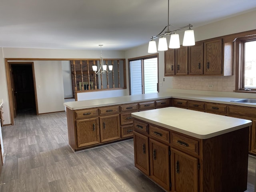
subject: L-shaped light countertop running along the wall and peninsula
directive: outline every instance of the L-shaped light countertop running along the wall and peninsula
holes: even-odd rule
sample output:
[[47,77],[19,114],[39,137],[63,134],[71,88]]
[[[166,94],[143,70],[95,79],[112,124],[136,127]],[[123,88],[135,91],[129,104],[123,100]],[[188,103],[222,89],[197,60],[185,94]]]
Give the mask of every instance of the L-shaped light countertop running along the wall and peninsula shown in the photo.
[[239,100],[241,98],[209,96],[209,95],[200,95],[200,94],[187,94],[187,93],[177,93],[177,92],[162,92],[162,93],[112,97],[112,98],[104,98],[104,99],[72,101],[72,102],[65,102],[64,106],[66,106],[71,110],[78,110],[78,109],[127,104],[132,102],[142,102],[147,100],[156,100],[156,99],[164,99],[164,98],[180,98],[180,99],[187,99],[187,100],[256,107],[256,104],[230,102],[234,100]]

